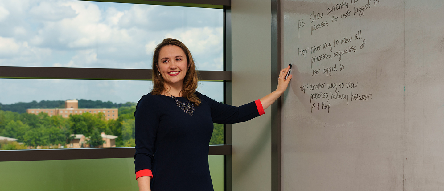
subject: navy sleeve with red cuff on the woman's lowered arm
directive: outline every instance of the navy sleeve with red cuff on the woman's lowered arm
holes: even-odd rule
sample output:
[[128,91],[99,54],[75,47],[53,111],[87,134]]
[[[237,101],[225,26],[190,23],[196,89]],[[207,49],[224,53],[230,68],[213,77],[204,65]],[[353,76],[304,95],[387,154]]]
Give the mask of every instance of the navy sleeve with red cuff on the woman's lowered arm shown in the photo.
[[151,176],[151,164],[154,159],[156,134],[159,128],[157,103],[150,96],[143,96],[136,105],[135,116],[135,155],[136,179]]

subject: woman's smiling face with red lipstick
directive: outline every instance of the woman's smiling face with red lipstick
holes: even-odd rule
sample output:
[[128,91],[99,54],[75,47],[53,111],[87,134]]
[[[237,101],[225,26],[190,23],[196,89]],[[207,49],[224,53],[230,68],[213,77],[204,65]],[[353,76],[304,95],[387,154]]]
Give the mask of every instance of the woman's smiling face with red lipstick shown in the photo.
[[162,47],[159,51],[157,69],[166,83],[183,84],[183,78],[185,78],[188,69],[185,52],[175,45]]

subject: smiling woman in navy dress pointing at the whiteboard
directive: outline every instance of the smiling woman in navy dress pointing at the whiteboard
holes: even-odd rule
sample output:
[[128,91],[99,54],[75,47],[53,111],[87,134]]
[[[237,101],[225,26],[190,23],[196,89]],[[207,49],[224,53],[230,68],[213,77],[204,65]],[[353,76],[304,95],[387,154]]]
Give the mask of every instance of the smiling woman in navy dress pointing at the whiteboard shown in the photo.
[[[284,93],[291,75],[281,70],[277,90],[234,107],[195,92],[197,71],[188,48],[164,39],[153,56],[153,90],[135,110],[136,179],[140,191],[213,191],[208,145],[213,123],[248,121]],[[150,183],[151,182],[151,183]]]

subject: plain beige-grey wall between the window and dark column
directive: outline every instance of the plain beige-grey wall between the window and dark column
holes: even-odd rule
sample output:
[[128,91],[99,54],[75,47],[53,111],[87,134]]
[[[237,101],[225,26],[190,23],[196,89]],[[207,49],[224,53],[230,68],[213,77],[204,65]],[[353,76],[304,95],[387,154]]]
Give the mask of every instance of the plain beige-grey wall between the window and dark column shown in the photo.
[[[232,0],[232,104],[271,93],[271,1]],[[271,190],[271,107],[232,125],[232,190]]]

